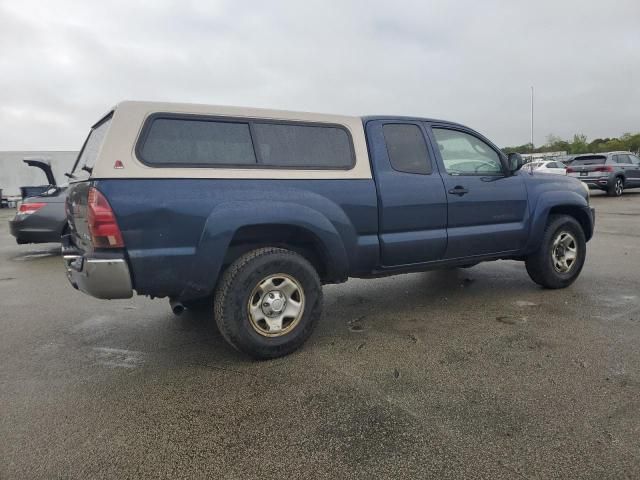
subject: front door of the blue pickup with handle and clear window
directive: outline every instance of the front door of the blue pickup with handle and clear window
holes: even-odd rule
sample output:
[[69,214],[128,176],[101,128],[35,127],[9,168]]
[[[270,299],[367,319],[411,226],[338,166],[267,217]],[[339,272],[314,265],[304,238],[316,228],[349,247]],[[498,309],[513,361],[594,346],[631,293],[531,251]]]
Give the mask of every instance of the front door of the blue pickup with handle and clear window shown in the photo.
[[515,252],[529,231],[527,191],[520,172],[476,132],[427,124],[448,200],[445,258]]

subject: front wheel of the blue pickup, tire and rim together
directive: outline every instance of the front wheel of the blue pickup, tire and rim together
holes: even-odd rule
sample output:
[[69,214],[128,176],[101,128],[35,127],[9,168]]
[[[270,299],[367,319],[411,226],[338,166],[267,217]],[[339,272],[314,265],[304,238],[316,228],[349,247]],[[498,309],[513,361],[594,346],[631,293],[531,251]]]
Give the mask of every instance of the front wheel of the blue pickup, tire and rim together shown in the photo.
[[537,252],[525,264],[531,280],[544,288],[571,285],[584,265],[587,243],[582,226],[568,215],[549,217]]

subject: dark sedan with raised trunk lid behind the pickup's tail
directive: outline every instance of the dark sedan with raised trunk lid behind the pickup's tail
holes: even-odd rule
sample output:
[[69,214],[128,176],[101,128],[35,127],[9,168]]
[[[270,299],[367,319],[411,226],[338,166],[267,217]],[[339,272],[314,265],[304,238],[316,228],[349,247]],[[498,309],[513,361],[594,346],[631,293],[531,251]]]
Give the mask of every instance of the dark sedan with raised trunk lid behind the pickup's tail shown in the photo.
[[16,237],[16,241],[20,244],[59,242],[60,236],[67,228],[64,210],[67,188],[56,184],[48,161],[24,160],[24,162],[43,170],[49,183],[41,187],[21,189],[23,200],[16,216],[9,220],[11,235]]

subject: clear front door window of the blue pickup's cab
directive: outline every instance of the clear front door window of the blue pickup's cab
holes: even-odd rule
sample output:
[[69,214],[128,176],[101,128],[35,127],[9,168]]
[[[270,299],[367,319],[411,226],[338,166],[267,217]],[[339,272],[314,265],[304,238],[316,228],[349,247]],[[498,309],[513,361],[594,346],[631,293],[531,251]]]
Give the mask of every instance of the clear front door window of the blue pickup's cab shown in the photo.
[[434,128],[444,168],[450,175],[502,175],[498,153],[468,133]]

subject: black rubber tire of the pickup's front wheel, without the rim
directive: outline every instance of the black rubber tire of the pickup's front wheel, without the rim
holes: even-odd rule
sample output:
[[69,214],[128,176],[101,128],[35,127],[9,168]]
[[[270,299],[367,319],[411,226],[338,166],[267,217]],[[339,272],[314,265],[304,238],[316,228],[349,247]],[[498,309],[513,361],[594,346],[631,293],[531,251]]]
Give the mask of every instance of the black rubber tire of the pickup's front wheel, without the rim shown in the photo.
[[[554,265],[554,243],[563,234],[572,236],[576,247],[576,258],[566,272],[558,271]],[[525,260],[527,273],[531,280],[544,288],[566,288],[580,275],[586,253],[587,242],[580,223],[568,215],[551,215],[540,248]]]

